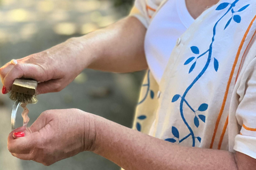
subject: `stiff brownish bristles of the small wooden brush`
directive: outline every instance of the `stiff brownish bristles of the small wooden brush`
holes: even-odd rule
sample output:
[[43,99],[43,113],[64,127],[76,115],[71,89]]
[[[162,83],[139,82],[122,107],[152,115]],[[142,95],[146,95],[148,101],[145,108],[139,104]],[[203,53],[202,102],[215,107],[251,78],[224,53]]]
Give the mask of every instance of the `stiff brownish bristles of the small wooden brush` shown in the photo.
[[10,91],[10,99],[13,101],[19,101],[20,103],[26,104],[35,104],[38,101],[36,95],[26,95],[16,91]]

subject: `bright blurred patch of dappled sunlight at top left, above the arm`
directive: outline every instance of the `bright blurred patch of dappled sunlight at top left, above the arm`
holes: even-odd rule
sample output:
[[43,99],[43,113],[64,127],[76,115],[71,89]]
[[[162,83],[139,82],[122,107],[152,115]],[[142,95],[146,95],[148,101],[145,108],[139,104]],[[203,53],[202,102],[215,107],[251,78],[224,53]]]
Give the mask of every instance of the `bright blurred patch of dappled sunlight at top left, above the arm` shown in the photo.
[[[121,18],[111,1],[1,0],[0,43],[30,41],[42,31],[84,35]],[[49,32],[50,33],[50,32]]]

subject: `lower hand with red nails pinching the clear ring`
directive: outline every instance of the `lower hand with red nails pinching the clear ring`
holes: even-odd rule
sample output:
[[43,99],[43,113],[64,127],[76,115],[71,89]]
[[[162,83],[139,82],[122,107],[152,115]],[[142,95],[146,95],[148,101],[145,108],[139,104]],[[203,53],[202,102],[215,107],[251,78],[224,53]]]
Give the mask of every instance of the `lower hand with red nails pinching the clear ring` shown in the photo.
[[95,138],[94,116],[79,109],[52,110],[42,113],[31,125],[25,137],[8,137],[11,154],[23,160],[34,160],[44,165],[93,150]]

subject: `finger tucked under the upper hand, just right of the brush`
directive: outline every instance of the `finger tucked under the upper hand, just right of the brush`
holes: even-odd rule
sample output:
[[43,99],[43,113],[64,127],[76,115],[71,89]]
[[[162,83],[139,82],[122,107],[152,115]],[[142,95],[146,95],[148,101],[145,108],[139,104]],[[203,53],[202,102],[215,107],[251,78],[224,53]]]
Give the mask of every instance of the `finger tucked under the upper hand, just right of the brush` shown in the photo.
[[38,83],[36,88],[36,94],[47,94],[48,92],[59,92],[62,90],[64,84],[61,83],[61,79],[49,80],[46,82]]

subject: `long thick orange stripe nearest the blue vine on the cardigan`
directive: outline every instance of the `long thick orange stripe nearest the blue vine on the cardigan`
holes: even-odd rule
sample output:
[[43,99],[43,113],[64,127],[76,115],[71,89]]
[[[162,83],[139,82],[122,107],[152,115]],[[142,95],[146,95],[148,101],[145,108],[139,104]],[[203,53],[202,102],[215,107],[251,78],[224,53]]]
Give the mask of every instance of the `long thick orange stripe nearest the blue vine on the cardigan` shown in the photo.
[[219,115],[218,115],[218,118],[217,118],[217,121],[216,121],[216,124],[215,124],[215,129],[214,129],[214,132],[213,132],[213,135],[212,135],[212,141],[211,141],[211,145],[210,145],[211,149],[213,147],[213,142],[214,142],[217,130],[218,130],[220,119],[221,119],[221,116],[223,114],[223,111],[224,111],[224,108],[225,108],[225,105],[226,105],[226,101],[227,101],[227,97],[228,97],[228,90],[229,90],[229,87],[230,87],[231,80],[233,78],[233,74],[235,72],[235,68],[236,68],[236,64],[237,64],[239,55],[240,55],[242,47],[244,45],[244,41],[245,41],[245,39],[246,39],[246,37],[247,37],[251,27],[252,27],[252,24],[255,21],[255,19],[256,19],[256,15],[254,16],[253,20],[251,21],[249,27],[247,28],[247,30],[246,30],[246,32],[244,34],[244,37],[243,37],[243,39],[242,39],[242,41],[241,41],[241,43],[239,45],[239,48],[238,48],[238,51],[237,51],[237,54],[236,54],[236,58],[235,58],[235,61],[234,61],[234,64],[233,64],[233,67],[232,67],[231,73],[229,75],[229,80],[228,80],[228,84],[227,84],[227,87],[226,87],[226,92],[225,92],[225,95],[224,95],[224,98],[223,98],[223,101],[222,101],[222,105],[221,105],[221,108],[220,108],[220,112],[219,112]]

